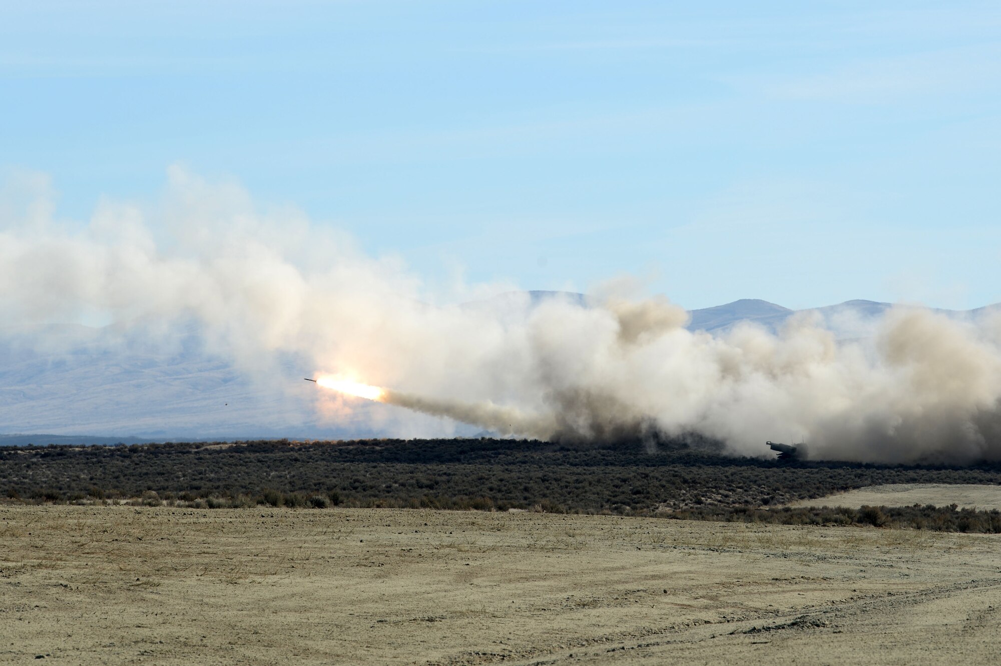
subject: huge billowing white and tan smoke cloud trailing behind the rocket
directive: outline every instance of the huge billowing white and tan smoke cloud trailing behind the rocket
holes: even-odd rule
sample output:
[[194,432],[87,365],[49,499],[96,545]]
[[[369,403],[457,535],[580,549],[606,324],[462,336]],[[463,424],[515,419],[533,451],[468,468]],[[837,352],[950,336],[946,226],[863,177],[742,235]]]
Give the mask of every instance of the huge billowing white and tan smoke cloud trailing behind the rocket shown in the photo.
[[998,318],[900,307],[839,342],[809,317],[778,335],[690,332],[666,299],[615,290],[588,305],[441,305],[399,260],[293,209],[262,211],[234,184],[174,168],[161,202],[104,202],[85,224],[54,218],[44,181],[34,187],[0,195],[8,323],[193,319],[244,372],[293,354],[307,372],[387,387],[390,404],[540,439],[699,433],[735,454],[792,438],[819,459],[1001,459]]

